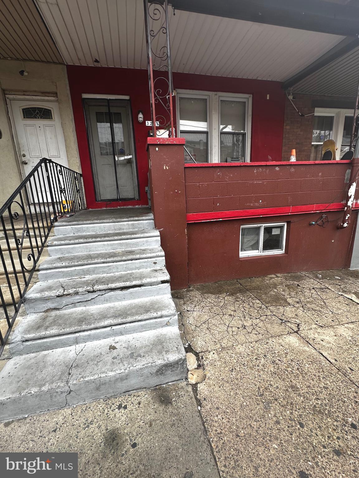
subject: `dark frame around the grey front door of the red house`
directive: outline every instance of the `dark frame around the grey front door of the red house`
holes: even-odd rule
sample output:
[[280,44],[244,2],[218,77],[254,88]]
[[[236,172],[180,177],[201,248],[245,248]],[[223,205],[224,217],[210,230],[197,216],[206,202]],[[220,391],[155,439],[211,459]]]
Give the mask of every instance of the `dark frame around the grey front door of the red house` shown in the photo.
[[[127,202],[127,201],[138,201],[140,199],[140,191],[138,187],[138,164],[137,164],[137,154],[136,154],[136,143],[135,143],[135,133],[134,133],[134,125],[133,125],[133,115],[132,115],[132,106],[131,106],[131,99],[127,95],[96,95],[95,93],[91,94],[86,94],[83,93],[82,95],[82,108],[83,108],[83,113],[85,117],[85,125],[86,125],[86,136],[87,136],[87,143],[88,143],[88,148],[89,148],[89,153],[90,153],[90,165],[91,165],[91,174],[92,174],[92,183],[93,183],[93,189],[94,189],[94,195],[95,195],[95,200],[97,203],[116,203],[116,202]],[[97,192],[96,192],[96,185],[95,185],[95,171],[94,171],[94,164],[92,160],[92,155],[93,155],[93,150],[92,150],[92,145],[90,141],[90,137],[92,138],[92,131],[91,131],[91,126],[88,122],[88,109],[86,105],[86,99],[118,99],[118,100],[123,100],[127,102],[128,106],[128,123],[129,123],[129,133],[130,133],[130,143],[132,147],[132,155],[134,156],[134,161],[132,161],[132,177],[134,181],[134,193],[135,197],[132,198],[126,198],[126,199],[103,199],[100,200],[97,197]],[[127,108],[126,106],[126,108]]]

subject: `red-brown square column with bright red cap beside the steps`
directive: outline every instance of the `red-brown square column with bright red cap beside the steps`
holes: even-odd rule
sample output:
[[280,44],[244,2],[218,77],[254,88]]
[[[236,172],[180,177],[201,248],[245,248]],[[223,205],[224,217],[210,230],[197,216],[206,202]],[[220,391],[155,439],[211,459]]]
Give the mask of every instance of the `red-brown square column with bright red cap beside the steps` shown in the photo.
[[147,138],[151,208],[171,289],[188,287],[184,138]]

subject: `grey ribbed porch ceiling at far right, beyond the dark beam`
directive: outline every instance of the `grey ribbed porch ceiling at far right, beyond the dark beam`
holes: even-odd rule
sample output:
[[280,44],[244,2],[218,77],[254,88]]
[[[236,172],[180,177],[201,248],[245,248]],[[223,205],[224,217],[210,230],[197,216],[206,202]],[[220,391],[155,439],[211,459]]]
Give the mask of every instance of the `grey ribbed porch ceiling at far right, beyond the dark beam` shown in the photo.
[[324,66],[292,87],[297,93],[356,97],[359,47]]

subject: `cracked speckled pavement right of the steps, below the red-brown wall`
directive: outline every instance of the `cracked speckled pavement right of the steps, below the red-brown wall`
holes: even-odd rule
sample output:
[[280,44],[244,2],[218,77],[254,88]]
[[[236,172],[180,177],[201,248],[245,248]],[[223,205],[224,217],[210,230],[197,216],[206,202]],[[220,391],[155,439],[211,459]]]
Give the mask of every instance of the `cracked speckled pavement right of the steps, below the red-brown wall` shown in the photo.
[[275,274],[173,293],[222,478],[359,474],[359,272]]

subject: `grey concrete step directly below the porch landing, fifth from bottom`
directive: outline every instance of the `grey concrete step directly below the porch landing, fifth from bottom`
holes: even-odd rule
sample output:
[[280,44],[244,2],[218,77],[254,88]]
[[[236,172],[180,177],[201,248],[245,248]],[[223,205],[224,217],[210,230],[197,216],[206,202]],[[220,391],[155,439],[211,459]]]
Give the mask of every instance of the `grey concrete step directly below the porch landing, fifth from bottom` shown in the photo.
[[155,229],[143,229],[112,233],[53,236],[48,242],[48,251],[50,256],[61,256],[84,252],[159,246],[159,232]]

